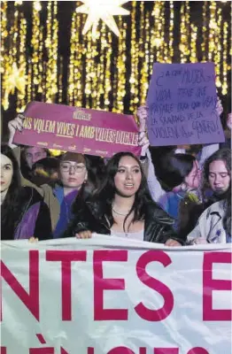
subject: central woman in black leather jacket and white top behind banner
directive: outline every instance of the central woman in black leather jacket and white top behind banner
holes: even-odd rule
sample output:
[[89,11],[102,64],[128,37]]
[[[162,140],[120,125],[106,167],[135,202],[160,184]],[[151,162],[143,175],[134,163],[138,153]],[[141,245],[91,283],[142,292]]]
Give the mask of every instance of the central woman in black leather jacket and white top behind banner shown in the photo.
[[89,238],[98,233],[180,246],[173,222],[151,200],[139,159],[120,152],[109,160],[102,187],[77,210],[66,236]]

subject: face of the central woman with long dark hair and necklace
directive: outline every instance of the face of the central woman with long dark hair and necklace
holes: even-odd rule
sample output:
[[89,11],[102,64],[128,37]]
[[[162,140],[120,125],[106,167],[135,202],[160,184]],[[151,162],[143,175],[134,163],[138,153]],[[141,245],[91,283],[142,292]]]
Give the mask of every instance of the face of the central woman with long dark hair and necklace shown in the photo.
[[114,184],[120,196],[135,196],[142,181],[140,166],[135,158],[120,158],[118,172],[114,176]]

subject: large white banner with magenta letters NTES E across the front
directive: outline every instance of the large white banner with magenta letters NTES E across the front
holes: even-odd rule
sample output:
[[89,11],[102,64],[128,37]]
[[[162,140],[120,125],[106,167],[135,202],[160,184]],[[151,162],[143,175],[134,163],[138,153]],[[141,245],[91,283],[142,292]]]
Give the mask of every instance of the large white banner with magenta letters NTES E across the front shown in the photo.
[[6,354],[228,354],[231,247],[2,242]]

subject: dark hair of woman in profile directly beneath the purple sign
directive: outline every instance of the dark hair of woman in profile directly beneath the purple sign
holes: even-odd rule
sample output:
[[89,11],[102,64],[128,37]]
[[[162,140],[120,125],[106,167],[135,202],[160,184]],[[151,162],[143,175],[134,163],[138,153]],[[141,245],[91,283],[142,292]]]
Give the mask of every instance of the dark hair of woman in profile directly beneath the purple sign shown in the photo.
[[160,159],[159,179],[167,189],[174,189],[182,184],[191,172],[195,161],[196,158],[189,154],[167,153]]

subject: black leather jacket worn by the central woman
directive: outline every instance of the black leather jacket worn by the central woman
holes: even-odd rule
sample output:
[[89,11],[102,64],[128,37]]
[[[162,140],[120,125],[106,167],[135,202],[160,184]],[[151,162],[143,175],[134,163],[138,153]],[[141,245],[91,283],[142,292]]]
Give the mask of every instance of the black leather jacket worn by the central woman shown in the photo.
[[[165,243],[169,238],[172,238],[183,244],[182,238],[175,233],[172,227],[174,219],[159,205],[147,202],[144,214],[144,241]],[[75,214],[73,224],[66,231],[64,237],[74,236],[86,230],[97,234],[111,235],[111,226],[100,203],[89,201],[82,203],[81,208]]]

